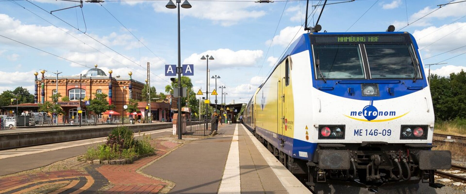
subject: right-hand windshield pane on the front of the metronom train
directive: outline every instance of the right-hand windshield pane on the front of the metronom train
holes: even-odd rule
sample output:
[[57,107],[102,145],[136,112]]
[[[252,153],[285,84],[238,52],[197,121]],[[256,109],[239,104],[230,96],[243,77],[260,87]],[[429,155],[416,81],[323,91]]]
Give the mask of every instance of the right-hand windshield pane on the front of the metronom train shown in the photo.
[[411,44],[365,45],[371,78],[420,78]]

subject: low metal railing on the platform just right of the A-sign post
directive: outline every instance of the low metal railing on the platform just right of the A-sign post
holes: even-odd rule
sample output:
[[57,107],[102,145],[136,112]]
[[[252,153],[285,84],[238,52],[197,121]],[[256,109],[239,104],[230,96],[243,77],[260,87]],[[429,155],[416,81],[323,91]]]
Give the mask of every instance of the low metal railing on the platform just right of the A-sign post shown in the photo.
[[214,130],[217,130],[215,120],[186,120],[186,135],[210,135]]

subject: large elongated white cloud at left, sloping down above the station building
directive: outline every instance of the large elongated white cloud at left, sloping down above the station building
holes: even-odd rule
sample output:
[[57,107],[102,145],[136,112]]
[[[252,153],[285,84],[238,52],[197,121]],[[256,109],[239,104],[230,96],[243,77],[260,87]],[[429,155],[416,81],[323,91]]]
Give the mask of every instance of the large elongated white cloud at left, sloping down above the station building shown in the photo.
[[[64,31],[70,33],[79,40],[76,40]],[[23,24],[20,20],[15,20],[6,14],[0,14],[0,33],[6,37],[33,47],[38,47],[50,53],[57,54],[58,56],[64,57],[68,60],[81,64],[88,64],[88,67],[92,67],[93,64],[97,63],[100,67],[123,68],[129,65],[134,66],[135,64],[132,61],[137,62],[137,59],[134,57],[126,56],[126,58],[129,58],[132,61],[125,59],[123,56],[111,51],[100,43],[97,43],[85,34],[74,33],[66,28],[60,29],[54,26]],[[101,37],[95,34],[89,34],[89,36],[94,37],[96,40],[101,41],[108,47],[113,48],[118,47],[128,50],[141,46],[138,41],[133,41],[134,38],[129,34],[118,34],[113,32]],[[82,43],[80,40],[86,44]],[[8,39],[0,39],[0,43],[18,47],[18,43]],[[40,51],[34,50],[33,48],[28,49],[31,49],[33,52],[44,54]],[[96,49],[103,54],[98,52]],[[115,50],[118,51],[118,49]],[[12,54],[8,59],[16,60],[17,57],[17,54]],[[50,55],[50,57],[52,56]],[[163,62],[158,58],[141,58],[141,61],[151,61],[152,63],[157,64],[157,67],[160,67],[160,65],[163,64]],[[70,63],[70,66],[82,67],[75,63]],[[145,67],[145,65],[143,65],[143,67]]]

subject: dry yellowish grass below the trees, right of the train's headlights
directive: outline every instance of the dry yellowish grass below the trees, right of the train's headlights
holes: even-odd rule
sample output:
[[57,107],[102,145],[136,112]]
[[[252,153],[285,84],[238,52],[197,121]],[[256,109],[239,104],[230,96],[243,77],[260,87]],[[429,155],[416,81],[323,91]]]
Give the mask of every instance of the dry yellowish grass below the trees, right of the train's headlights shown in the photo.
[[466,119],[436,121],[434,133],[466,136]]

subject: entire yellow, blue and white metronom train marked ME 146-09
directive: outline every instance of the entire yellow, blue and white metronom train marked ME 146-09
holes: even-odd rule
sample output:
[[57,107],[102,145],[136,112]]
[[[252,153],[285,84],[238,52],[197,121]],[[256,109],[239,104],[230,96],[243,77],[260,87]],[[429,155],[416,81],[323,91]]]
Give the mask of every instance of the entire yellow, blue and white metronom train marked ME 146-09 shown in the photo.
[[416,180],[441,187],[434,170],[450,169],[451,153],[431,150],[434,112],[420,59],[407,32],[304,33],[243,120],[311,188]]

